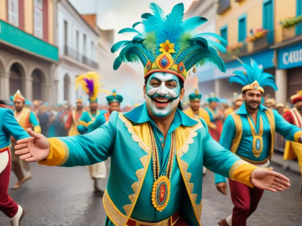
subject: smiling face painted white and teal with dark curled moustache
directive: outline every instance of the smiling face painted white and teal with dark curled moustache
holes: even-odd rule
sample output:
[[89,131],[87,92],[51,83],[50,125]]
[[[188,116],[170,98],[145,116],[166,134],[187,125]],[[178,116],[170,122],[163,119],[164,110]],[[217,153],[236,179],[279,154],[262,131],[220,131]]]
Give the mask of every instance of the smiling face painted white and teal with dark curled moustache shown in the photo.
[[156,72],[146,84],[146,104],[156,117],[166,117],[179,103],[180,83],[176,75]]

